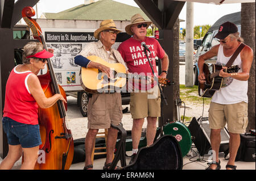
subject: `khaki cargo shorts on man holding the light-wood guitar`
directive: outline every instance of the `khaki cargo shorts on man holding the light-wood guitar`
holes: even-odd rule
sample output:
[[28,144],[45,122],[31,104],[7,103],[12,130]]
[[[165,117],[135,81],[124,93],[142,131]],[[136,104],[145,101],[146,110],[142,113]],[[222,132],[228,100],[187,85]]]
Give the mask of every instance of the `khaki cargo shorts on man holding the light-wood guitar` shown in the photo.
[[110,124],[118,125],[122,121],[122,99],[120,93],[93,94],[88,102],[88,128],[106,129]]

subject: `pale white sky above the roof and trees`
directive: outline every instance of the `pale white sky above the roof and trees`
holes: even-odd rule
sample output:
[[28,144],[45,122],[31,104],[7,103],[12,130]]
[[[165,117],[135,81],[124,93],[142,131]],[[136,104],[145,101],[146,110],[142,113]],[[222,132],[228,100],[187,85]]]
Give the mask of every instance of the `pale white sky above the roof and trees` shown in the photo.
[[[113,0],[127,5],[139,7],[133,0]],[[60,12],[71,7],[81,5],[84,0],[40,0],[38,3],[38,16],[42,12]],[[179,18],[186,19],[186,6],[180,12]],[[194,26],[210,24],[213,25],[216,20],[226,14],[241,11],[241,3],[210,5],[206,3],[194,3]],[[185,28],[186,23],[181,22],[180,27]]]

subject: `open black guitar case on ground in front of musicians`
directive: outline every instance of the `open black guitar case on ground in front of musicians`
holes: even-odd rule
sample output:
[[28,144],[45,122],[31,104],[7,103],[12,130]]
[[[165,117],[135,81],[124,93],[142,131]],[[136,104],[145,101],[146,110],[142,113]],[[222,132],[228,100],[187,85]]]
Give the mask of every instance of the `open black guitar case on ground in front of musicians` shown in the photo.
[[176,138],[164,135],[151,146],[139,149],[135,162],[124,170],[181,170],[183,157]]

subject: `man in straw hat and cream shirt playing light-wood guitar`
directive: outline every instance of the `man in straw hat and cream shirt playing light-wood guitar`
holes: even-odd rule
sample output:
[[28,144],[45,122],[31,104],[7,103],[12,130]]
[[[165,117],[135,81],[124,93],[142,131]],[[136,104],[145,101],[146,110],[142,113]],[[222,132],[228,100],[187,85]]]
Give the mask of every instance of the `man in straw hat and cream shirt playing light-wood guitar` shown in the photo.
[[[115,27],[112,19],[103,20],[94,32],[94,37],[98,39],[97,42],[86,44],[86,47],[75,57],[75,63],[85,68],[100,69],[102,73],[106,73],[110,77],[110,68],[105,65],[88,60],[88,56],[98,56],[106,62],[126,64],[121,57],[121,54],[112,49],[115,43],[117,34],[121,32]],[[127,70],[127,68],[126,68]],[[92,94],[88,102],[88,133],[85,138],[85,167],[84,170],[92,169],[92,149],[95,145],[96,134],[98,129],[108,128],[108,138],[106,142],[106,162],[103,169],[108,170],[112,160],[115,143],[117,141],[117,130],[110,127],[110,124],[118,125],[122,120],[122,100],[121,94],[113,93],[99,93]]]

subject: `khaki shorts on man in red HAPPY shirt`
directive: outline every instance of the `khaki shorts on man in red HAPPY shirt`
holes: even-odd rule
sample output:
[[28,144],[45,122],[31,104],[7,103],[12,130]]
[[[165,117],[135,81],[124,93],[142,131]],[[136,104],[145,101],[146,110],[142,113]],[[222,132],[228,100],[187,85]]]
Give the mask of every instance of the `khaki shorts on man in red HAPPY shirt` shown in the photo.
[[160,117],[160,91],[158,86],[146,92],[131,92],[130,112],[133,119]]

